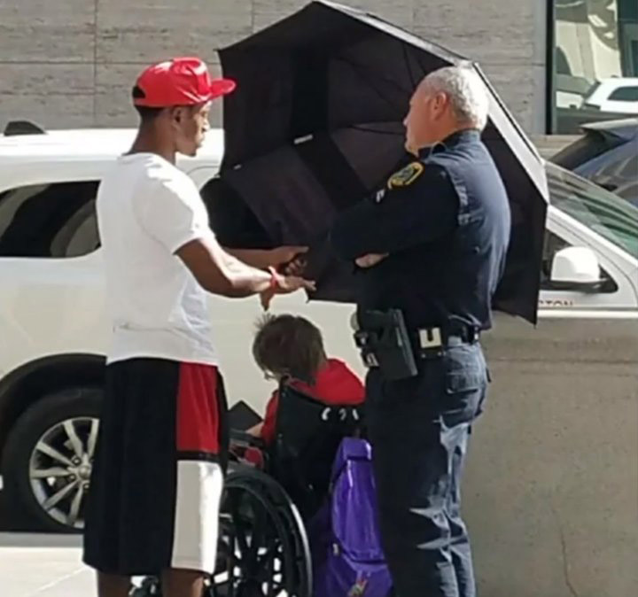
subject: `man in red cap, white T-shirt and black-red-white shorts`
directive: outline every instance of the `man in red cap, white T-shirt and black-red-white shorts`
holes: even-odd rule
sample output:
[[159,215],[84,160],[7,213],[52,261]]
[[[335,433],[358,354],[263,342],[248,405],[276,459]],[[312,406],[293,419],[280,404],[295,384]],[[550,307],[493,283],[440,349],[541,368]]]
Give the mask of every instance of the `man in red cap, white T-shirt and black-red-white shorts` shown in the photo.
[[235,83],[211,80],[198,58],[149,67],[133,99],[141,124],[105,175],[97,221],[112,342],[86,513],[84,561],[100,597],[128,595],[131,576],[162,578],[165,597],[201,597],[214,571],[225,399],[206,292],[230,298],[312,289],[274,267],[294,248],[225,252],[175,156],[194,156],[212,100]]

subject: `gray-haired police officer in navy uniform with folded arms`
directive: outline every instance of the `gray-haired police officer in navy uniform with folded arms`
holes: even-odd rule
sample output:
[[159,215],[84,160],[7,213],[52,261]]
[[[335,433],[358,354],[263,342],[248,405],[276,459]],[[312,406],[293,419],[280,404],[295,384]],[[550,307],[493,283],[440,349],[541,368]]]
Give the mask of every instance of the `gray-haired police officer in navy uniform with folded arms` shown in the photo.
[[369,434],[399,597],[476,594],[461,476],[488,383],[478,336],[510,239],[506,191],[481,142],[487,111],[473,69],[425,77],[404,120],[415,159],[331,229],[361,272]]

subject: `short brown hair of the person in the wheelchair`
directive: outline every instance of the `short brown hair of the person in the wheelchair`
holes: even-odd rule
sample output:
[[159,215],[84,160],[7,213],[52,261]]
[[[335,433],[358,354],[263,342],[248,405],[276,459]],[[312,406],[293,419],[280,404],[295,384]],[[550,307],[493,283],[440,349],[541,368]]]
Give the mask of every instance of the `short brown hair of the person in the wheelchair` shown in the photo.
[[326,359],[323,337],[306,318],[297,315],[266,315],[257,323],[253,357],[263,370],[314,384]]

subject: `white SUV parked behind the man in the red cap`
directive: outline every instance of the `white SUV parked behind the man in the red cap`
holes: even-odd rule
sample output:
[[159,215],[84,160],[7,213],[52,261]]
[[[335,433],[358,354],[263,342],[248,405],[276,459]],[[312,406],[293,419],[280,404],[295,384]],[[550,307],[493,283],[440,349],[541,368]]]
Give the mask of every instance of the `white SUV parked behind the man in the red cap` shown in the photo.
[[[0,136],[1,473],[19,523],[65,531],[82,526],[105,367],[97,185],[135,131],[10,127],[20,128],[31,134]],[[222,150],[214,130],[197,158],[178,164],[204,197]],[[309,305],[300,293],[274,303],[312,318],[355,361],[346,326],[335,325],[351,306]],[[261,412],[272,388],[251,358],[259,301],[211,297],[210,308],[231,402]]]

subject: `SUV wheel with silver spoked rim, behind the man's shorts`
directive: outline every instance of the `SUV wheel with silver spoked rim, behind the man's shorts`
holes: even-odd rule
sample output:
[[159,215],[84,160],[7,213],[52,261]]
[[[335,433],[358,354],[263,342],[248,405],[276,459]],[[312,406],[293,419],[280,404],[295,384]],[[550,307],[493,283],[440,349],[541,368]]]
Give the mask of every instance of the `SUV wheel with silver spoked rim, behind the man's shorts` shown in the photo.
[[12,526],[82,532],[101,401],[99,388],[66,389],[44,396],[19,416],[2,468]]

